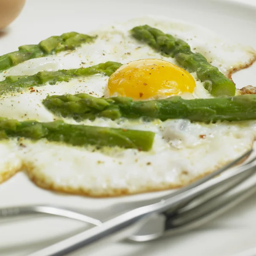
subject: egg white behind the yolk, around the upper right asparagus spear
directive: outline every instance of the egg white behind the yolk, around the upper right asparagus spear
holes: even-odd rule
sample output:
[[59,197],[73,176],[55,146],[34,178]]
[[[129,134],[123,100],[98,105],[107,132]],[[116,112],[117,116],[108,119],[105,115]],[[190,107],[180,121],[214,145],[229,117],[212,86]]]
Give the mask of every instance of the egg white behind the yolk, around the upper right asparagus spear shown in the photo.
[[[251,47],[228,42],[202,26],[152,16],[92,31],[91,35],[98,35],[93,44],[83,44],[73,51],[59,52],[57,55],[24,61],[0,73],[0,81],[10,75],[33,75],[43,70],[56,71],[90,67],[106,61],[125,64],[138,59],[158,58],[178,65],[174,58],[165,57],[131,37],[130,29],[144,24],[157,27],[163,32],[188,42],[193,51],[203,54],[212,65],[218,67],[227,76],[234,69],[239,70],[248,66],[256,58],[256,52]],[[197,79],[196,76],[194,79]]]

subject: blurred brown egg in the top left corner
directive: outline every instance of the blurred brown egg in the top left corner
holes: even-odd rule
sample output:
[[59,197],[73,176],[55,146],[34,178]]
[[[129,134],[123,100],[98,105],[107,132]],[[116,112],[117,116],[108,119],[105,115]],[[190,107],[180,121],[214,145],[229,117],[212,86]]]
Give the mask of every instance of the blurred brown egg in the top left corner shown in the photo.
[[8,26],[20,14],[26,0],[0,0],[0,29]]

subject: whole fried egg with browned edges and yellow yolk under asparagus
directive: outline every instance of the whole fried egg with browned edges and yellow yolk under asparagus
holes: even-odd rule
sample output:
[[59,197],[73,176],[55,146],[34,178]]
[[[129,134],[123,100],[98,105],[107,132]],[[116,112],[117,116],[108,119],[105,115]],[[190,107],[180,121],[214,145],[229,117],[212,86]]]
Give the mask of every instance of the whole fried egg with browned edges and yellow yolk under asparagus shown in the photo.
[[[226,76],[249,66],[256,58],[251,47],[226,42],[201,26],[162,17],[134,19],[91,32],[90,35],[98,35],[93,44],[31,59],[0,73],[3,80],[10,75],[90,67],[106,61],[123,64],[111,77],[98,74],[3,95],[1,116],[39,122],[64,119],[77,124],[44,108],[42,100],[48,94],[120,95],[134,100],[164,99],[172,95],[191,100],[212,97],[195,73],[188,73],[174,58],[163,56],[131,37],[129,30],[144,24],[188,42],[193,51],[203,54]],[[0,141],[0,152],[4,152],[0,182],[25,168],[38,186],[82,195],[115,196],[172,189],[238,157],[252,148],[256,138],[254,122],[204,124],[180,119],[145,122],[97,118],[79,124],[153,131],[156,134],[153,148],[144,152],[117,147],[75,147],[47,140],[3,140]]]

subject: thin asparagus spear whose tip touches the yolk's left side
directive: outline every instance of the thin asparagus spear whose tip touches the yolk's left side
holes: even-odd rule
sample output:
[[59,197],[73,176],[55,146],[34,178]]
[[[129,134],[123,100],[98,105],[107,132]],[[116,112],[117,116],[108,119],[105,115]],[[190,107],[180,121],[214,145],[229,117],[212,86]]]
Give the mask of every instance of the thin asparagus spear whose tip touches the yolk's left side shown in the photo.
[[104,74],[111,76],[122,64],[108,61],[98,65],[73,70],[42,71],[32,76],[7,76],[5,80],[0,81],[0,94],[16,92],[22,88],[32,86],[41,86],[46,82],[56,84],[57,81],[69,81],[72,78],[80,76],[92,76],[94,74]]

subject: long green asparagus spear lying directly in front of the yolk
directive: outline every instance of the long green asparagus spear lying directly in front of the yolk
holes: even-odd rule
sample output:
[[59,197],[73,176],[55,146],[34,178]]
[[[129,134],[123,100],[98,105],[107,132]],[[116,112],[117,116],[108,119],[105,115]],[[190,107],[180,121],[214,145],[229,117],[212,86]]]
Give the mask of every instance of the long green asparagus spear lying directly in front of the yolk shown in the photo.
[[85,93],[47,96],[43,104],[52,113],[76,120],[106,117],[110,119],[150,118],[189,119],[198,122],[256,119],[256,95],[212,99],[167,99],[133,101],[126,97],[96,98]]

